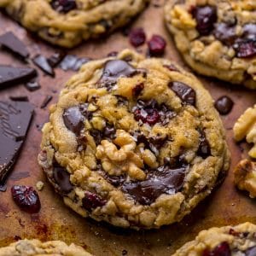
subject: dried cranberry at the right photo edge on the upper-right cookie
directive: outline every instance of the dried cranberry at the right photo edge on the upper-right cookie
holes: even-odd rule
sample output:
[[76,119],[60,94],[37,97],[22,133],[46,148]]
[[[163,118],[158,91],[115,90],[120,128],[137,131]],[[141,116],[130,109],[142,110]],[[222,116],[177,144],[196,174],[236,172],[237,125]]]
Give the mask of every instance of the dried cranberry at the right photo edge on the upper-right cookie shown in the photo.
[[241,41],[234,44],[233,48],[236,50],[236,56],[238,58],[248,58],[256,55],[255,40]]

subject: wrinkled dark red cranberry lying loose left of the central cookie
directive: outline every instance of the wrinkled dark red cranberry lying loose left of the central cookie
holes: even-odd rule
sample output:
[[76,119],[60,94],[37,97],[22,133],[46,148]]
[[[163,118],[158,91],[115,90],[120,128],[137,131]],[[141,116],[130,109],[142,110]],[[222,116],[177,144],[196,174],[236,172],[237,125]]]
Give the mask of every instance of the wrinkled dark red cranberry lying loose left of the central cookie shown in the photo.
[[38,192],[28,186],[13,186],[11,193],[15,203],[22,211],[29,213],[39,212],[41,203],[38,197]]

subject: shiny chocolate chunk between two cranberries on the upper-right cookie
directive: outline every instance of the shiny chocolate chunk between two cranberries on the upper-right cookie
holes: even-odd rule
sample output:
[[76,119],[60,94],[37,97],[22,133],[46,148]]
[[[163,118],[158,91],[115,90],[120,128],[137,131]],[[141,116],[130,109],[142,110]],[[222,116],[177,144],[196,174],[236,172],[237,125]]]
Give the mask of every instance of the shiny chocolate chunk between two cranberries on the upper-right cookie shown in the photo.
[[236,41],[236,26],[227,23],[218,23],[215,25],[213,35],[223,44],[232,45]]

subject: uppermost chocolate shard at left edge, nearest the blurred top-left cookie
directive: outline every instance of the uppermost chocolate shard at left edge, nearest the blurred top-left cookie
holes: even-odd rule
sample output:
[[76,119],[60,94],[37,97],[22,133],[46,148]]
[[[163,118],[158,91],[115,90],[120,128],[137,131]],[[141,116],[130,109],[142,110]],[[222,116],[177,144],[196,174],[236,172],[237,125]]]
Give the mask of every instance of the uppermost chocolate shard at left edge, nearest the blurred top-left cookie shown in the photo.
[[0,44],[2,44],[4,48],[9,49],[15,55],[20,56],[22,59],[26,59],[29,56],[26,45],[23,44],[20,39],[13,34],[13,32],[6,32],[1,35]]

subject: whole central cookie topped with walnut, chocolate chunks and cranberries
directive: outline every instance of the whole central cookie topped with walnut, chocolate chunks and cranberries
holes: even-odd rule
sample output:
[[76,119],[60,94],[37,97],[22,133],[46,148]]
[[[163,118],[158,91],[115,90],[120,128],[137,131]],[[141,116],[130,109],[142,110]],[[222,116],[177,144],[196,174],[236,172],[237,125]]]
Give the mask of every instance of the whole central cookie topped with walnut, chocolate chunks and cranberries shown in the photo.
[[212,97],[172,61],[86,63],[44,125],[40,166],[68,207],[125,228],[179,221],[229,167]]

